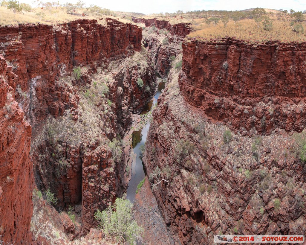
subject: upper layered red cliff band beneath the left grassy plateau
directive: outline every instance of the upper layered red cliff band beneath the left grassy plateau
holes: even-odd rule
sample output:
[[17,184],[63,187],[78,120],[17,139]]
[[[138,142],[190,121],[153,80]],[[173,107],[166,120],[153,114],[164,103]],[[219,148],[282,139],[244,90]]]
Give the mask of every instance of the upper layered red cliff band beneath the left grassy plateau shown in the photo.
[[[62,115],[76,101],[67,99],[57,77],[70,73],[73,66],[93,64],[127,53],[132,45],[141,48],[142,29],[107,18],[106,26],[97,20],[76,20],[67,24],[19,25],[0,28],[0,50],[18,75],[17,85],[25,91],[22,109],[26,120],[36,125],[50,113]],[[94,64],[93,64],[94,65]]]

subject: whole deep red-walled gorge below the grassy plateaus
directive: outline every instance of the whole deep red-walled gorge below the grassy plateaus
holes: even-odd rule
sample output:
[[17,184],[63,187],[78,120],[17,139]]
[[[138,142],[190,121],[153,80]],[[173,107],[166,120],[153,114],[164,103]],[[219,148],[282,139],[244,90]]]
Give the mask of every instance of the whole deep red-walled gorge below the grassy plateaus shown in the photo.
[[[111,243],[95,212],[125,193],[134,202],[145,175],[167,243],[305,236],[306,44],[133,21],[0,27],[2,239]],[[46,213],[65,239],[37,227]]]

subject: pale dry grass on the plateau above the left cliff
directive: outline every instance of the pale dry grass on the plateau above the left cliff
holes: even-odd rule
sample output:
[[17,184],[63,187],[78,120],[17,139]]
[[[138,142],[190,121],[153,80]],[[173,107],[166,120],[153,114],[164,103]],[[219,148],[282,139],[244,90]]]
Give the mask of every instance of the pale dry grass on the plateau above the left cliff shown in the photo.
[[[33,9],[31,12],[23,12],[14,14],[13,11],[6,9],[6,7],[0,7],[0,25],[18,25],[18,24],[60,24],[76,19],[96,19],[101,25],[105,25],[106,18],[114,18],[113,16],[101,15],[101,16],[92,16],[85,15],[82,16],[82,13],[87,13],[86,9],[79,9],[75,14],[68,14],[64,7],[58,7],[57,9]],[[40,17],[39,14],[43,14],[43,17]],[[100,20],[103,19],[103,20]],[[124,23],[130,23],[131,21],[123,19],[121,17],[115,17],[116,20],[119,20]]]

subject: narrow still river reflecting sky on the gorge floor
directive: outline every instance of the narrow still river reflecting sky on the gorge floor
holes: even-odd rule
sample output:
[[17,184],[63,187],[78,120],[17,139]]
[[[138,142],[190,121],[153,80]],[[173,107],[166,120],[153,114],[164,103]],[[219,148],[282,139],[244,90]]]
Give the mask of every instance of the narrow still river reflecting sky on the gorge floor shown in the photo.
[[[162,93],[162,89],[165,88],[165,83],[163,82],[159,74],[157,75],[157,81],[158,81],[157,93],[155,94],[154,99],[150,100],[145,105],[140,115],[148,113],[149,111],[152,110],[154,105],[157,104],[157,99]],[[141,159],[140,147],[144,145],[144,143],[146,142],[149,127],[150,127],[150,120],[147,120],[146,126],[144,126],[141,130],[134,131],[132,134],[132,148],[134,153],[136,154],[136,158],[134,158],[132,162],[132,173],[131,173],[132,176],[131,180],[129,181],[128,189],[126,191],[126,198],[132,203],[135,202],[137,185],[140,183],[141,180],[144,179],[144,176],[146,175],[144,170],[144,165]]]

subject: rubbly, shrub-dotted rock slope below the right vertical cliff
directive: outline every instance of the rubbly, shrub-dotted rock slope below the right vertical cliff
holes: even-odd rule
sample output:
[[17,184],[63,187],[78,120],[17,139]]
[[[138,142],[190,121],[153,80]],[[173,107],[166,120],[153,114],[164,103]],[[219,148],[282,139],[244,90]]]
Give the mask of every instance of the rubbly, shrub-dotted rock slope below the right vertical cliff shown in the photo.
[[[189,68],[197,71],[191,73],[194,77],[203,77],[194,63],[188,66],[185,52],[183,72]],[[209,60],[209,52],[206,57]],[[153,112],[144,154],[153,193],[174,241],[212,244],[214,234],[234,233],[305,235],[306,169],[299,158],[305,132],[232,135],[185,101],[189,94],[180,92],[178,80],[178,70],[172,68]],[[224,137],[228,134],[231,137]]]

